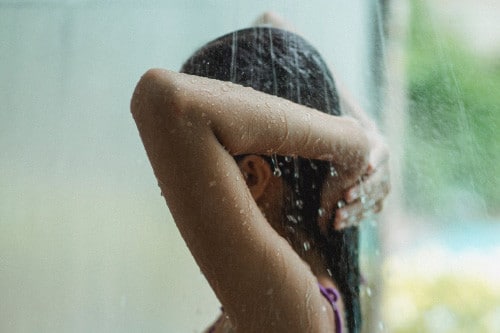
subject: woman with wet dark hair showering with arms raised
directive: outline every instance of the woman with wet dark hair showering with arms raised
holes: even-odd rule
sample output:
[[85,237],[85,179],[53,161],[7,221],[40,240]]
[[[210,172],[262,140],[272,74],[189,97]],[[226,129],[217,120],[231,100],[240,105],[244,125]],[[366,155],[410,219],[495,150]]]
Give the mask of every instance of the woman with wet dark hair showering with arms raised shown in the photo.
[[370,142],[338,117],[320,55],[293,33],[251,28],[207,44],[182,71],[148,71],[131,109],[222,303],[209,331],[358,331],[357,227],[337,203],[366,208],[356,184],[371,170]]

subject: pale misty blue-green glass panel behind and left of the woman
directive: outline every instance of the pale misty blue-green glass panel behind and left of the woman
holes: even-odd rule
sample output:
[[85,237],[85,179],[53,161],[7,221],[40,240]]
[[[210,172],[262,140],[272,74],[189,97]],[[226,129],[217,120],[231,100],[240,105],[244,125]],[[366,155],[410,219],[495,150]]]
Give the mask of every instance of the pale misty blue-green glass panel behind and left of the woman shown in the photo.
[[369,108],[364,2],[0,1],[1,331],[192,332],[214,319],[129,101],[148,68],[176,70],[265,10]]

